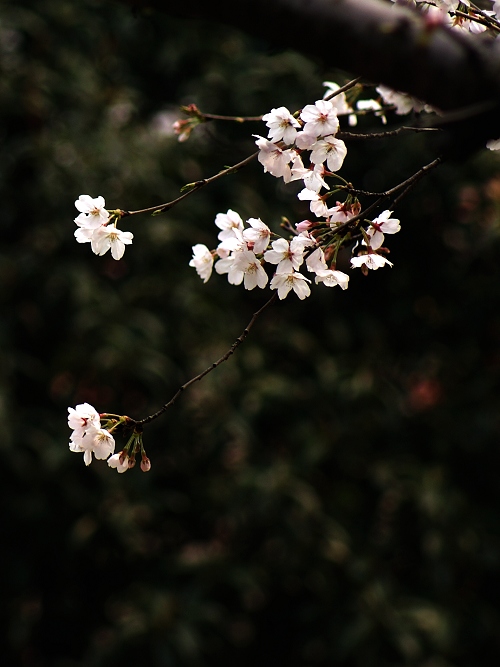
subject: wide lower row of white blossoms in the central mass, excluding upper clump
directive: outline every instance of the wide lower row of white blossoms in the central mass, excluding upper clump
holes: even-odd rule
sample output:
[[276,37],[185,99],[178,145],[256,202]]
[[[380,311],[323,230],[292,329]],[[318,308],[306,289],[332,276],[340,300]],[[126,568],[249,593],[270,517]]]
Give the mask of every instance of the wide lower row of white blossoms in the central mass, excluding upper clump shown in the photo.
[[[359,203],[338,203],[326,223],[326,236],[330,240],[323,246],[318,242],[318,237],[325,235],[322,223],[304,220],[296,225],[293,238],[287,240],[273,234],[259,218],[249,218],[245,227],[241,216],[229,209],[227,213],[218,213],[215,218],[215,224],[221,230],[217,248],[211,251],[201,243],[193,246],[189,265],[196,269],[205,283],[215,267],[218,274],[227,274],[231,285],[243,283],[248,290],[266,287],[269,277],[264,266],[266,263],[274,265],[276,268],[269,286],[277,290],[278,297],[284,299],[293,290],[299,299],[305,299],[311,293],[311,280],[299,271],[305,264],[306,269],[315,274],[316,284],[322,283],[327,287],[339,285],[345,290],[349,276],[336,269],[337,253],[344,238],[335,240],[336,231],[341,229],[342,223],[349,222],[354,216],[359,217],[358,214]],[[358,256],[351,260],[353,268],[359,267],[366,272],[385,264],[392,266],[384,256],[387,249],[382,247],[384,234],[395,234],[400,230],[399,220],[391,218],[391,215],[392,211],[383,211],[377,218],[364,221],[368,223],[366,229],[360,226],[362,241]]]

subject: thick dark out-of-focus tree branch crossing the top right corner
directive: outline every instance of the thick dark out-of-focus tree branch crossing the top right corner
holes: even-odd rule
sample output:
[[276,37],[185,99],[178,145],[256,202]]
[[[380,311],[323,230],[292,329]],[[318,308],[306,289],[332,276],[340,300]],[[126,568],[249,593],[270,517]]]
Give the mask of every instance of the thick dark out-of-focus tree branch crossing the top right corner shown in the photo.
[[216,20],[444,111],[500,102],[500,46],[381,0],[119,0]]

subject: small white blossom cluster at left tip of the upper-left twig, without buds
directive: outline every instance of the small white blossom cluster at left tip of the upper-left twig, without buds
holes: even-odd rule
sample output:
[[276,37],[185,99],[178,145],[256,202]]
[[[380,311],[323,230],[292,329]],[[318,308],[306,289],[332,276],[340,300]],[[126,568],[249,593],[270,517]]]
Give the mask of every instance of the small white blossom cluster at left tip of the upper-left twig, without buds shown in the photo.
[[111,250],[113,259],[121,259],[125,246],[132,243],[133,234],[117,228],[118,212],[107,211],[103,197],[92,199],[89,195],[80,195],[75,206],[80,212],[75,218],[78,243],[90,243],[96,255],[104,255]]

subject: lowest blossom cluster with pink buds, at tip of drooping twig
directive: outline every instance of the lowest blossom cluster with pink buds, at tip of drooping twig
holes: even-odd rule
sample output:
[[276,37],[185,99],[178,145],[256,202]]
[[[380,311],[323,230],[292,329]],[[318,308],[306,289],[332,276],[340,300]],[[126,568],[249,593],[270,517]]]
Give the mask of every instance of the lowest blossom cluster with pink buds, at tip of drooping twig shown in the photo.
[[[96,459],[108,459],[110,468],[125,472],[135,465],[136,453],[141,453],[141,470],[147,472],[151,462],[146,456],[142,443],[142,432],[134,429],[132,436],[123,451],[115,454],[115,439],[111,435],[118,426],[127,424],[129,417],[99,414],[89,403],[81,403],[76,408],[68,408],[68,426],[73,429],[69,448],[72,452],[83,453],[85,465],[92,462],[92,454]],[[104,420],[104,423],[101,423]]]

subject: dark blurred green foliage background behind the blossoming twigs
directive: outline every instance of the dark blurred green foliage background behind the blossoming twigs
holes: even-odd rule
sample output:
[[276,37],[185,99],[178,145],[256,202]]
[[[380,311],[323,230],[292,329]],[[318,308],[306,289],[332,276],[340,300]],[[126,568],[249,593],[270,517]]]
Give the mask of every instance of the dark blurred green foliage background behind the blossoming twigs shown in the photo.
[[[146,429],[150,473],[86,468],[68,449],[68,406],[145,417],[268,298],[189,268],[192,245],[216,245],[218,212],[276,231],[308,215],[298,185],[255,163],[125,219],[134,244],[115,262],[75,242],[74,200],[168,201],[265,133],[211,123],[180,144],[180,104],[295,110],[348,76],[216,23],[0,5],[3,665],[500,659],[493,153],[441,167],[401,204],[392,270],[266,311]],[[420,135],[358,142],[342,174],[381,189],[434,156]]]

